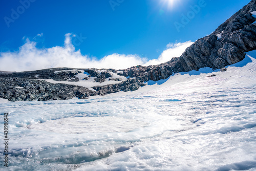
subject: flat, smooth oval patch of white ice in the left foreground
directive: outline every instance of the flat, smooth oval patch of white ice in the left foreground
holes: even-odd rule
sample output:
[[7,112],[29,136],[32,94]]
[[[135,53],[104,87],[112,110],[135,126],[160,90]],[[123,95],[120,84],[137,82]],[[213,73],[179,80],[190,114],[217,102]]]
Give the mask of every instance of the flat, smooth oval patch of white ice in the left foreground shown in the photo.
[[[135,119],[124,119],[117,117],[74,117],[45,121],[41,124],[33,124],[28,129],[52,131],[61,134],[83,134],[83,133],[112,133],[129,132],[146,123]],[[127,124],[129,123],[129,124]],[[100,129],[99,129],[100,128]]]

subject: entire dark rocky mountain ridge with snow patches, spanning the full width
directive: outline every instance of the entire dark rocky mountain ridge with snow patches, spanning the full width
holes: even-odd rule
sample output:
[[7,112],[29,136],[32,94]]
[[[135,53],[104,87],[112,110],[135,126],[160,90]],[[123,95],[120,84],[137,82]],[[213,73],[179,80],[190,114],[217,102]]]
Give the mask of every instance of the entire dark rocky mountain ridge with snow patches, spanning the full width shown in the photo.
[[74,97],[135,91],[149,80],[166,79],[179,72],[209,67],[221,69],[244,59],[256,49],[256,0],[232,15],[216,31],[198,39],[180,57],[156,66],[125,70],[54,68],[29,72],[0,72],[0,98],[62,100]]

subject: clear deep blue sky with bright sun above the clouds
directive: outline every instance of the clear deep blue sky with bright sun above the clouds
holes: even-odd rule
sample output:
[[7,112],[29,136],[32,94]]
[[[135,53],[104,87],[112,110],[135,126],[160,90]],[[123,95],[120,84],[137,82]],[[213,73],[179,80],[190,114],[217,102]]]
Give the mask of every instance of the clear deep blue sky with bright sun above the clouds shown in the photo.
[[[112,6],[109,0],[30,1],[0,1],[0,52],[17,51],[24,37],[36,41],[37,48],[63,46],[65,34],[73,33],[87,37],[75,42],[82,54],[98,59],[113,53],[138,54],[153,59],[169,42],[195,41],[210,34],[250,2],[205,0],[193,16],[190,6],[203,0],[174,0],[173,5],[168,0],[113,0]],[[190,21],[178,31],[174,23],[182,24],[182,14],[188,12]]]

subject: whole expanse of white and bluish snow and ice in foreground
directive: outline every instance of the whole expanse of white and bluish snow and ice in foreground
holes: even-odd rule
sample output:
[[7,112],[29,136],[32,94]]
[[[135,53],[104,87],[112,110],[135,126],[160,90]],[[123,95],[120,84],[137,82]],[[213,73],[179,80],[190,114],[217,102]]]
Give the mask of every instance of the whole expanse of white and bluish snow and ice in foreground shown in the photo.
[[0,99],[9,113],[8,169],[256,170],[255,68],[246,56],[226,72],[179,73],[134,92]]

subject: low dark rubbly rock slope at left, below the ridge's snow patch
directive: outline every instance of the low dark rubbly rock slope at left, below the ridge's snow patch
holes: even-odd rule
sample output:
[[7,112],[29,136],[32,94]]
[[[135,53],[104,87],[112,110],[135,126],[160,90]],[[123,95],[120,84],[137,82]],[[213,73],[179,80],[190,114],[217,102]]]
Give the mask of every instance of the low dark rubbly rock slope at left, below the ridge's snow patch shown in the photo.
[[86,98],[92,94],[88,88],[44,80],[7,77],[0,78],[0,97],[9,101],[20,100],[66,100],[73,97]]

